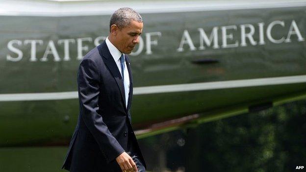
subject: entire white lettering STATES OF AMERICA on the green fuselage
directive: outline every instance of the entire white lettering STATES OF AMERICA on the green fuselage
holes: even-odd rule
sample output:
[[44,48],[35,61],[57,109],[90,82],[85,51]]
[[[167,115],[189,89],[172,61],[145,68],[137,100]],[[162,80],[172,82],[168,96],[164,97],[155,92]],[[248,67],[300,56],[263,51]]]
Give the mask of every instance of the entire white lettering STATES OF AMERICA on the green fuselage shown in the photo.
[[[286,24],[284,21],[272,21],[265,27],[265,23],[257,23],[257,25],[243,24],[243,25],[226,25],[226,26],[214,26],[210,31],[209,37],[207,36],[203,28],[197,28],[195,30],[184,29],[180,35],[180,42],[178,47],[169,47],[169,51],[175,49],[177,52],[183,52],[186,50],[206,50],[208,47],[212,49],[228,49],[237,47],[247,47],[256,45],[265,45],[266,41],[274,44],[291,43],[293,39],[298,42],[305,41],[302,37],[300,29],[295,22],[291,21],[290,27],[285,35],[280,35],[280,31],[283,32]],[[238,32],[238,33],[237,33]],[[240,32],[240,34],[239,34]],[[192,33],[192,34],[190,34]],[[195,35],[194,33],[198,33]],[[293,36],[295,35],[295,36]],[[194,39],[198,36],[198,39]],[[221,36],[221,43],[219,43],[219,36]],[[99,36],[96,38],[84,37],[84,38],[70,38],[70,39],[59,39],[57,41],[48,40],[10,40],[7,43],[7,48],[10,51],[6,55],[6,60],[11,62],[18,62],[24,58],[24,52],[30,52],[28,61],[30,62],[46,62],[53,60],[59,61],[70,61],[72,59],[81,60],[84,53],[89,50],[89,46],[98,46],[106,39],[105,36]],[[130,55],[136,56],[146,50],[147,55],[154,53],[154,50],[158,49],[158,40],[162,39],[162,32],[148,32],[145,33],[145,40],[139,37],[139,45],[134,49]],[[169,39],[169,35],[167,37]],[[179,38],[174,38],[176,40]],[[47,44],[47,45],[46,45]],[[199,47],[198,47],[199,45]],[[26,46],[27,49],[25,50]],[[28,47],[29,46],[29,47]],[[173,46],[173,44],[169,45]],[[176,46],[176,45],[174,45]],[[77,56],[71,58],[70,50],[71,47],[76,48]],[[154,49],[152,49],[152,47]],[[37,57],[37,49],[44,49],[44,54],[41,57]],[[58,51],[60,49],[61,51]],[[58,52],[61,52],[60,54]],[[62,55],[62,57],[60,56]]]

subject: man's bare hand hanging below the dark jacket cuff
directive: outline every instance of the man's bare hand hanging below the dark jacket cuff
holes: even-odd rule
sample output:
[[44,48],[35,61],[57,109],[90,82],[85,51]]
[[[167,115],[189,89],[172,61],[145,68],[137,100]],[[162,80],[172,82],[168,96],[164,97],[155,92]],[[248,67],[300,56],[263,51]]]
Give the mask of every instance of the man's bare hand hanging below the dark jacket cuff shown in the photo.
[[137,166],[133,159],[128,155],[127,152],[121,153],[116,158],[122,172],[138,172]]

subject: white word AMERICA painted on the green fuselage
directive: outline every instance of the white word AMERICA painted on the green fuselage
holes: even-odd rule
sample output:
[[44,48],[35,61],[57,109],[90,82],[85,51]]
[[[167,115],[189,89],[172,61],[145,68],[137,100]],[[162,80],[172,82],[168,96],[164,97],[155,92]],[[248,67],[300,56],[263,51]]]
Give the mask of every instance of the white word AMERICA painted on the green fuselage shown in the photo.
[[[248,46],[247,40],[250,42],[252,46],[256,45],[265,45],[264,40],[264,34],[266,34],[267,39],[274,44],[280,44],[280,43],[290,43],[291,42],[291,36],[296,35],[297,40],[299,42],[305,41],[305,39],[302,37],[301,32],[299,30],[298,25],[296,24],[295,20],[292,20],[290,28],[288,30],[287,35],[282,35],[281,38],[276,38],[279,36],[279,33],[277,33],[275,37],[273,37],[273,28],[280,26],[285,26],[284,21],[273,21],[271,22],[267,28],[266,32],[264,33],[264,23],[258,23],[258,42],[255,41],[254,36],[256,33],[255,26],[252,24],[244,24],[244,25],[226,25],[226,26],[215,26],[212,28],[211,34],[208,38],[203,28],[198,28],[199,31],[199,37],[200,37],[200,43],[199,43],[199,50],[206,49],[204,47],[204,43],[207,47],[211,47],[213,42],[213,49],[219,49],[219,43],[218,43],[218,30],[221,30],[221,37],[222,37],[222,44],[221,48],[236,48],[239,46],[239,35],[240,35],[240,47],[246,47]],[[237,32],[237,27],[240,27],[240,34],[234,35],[235,32]],[[278,28],[281,29],[281,28]],[[248,31],[247,31],[248,30]],[[286,36],[286,38],[285,38]],[[236,39],[235,39],[236,38]],[[230,42],[230,43],[229,43]],[[183,34],[181,36],[181,41],[179,43],[178,52],[184,51],[184,46],[189,47],[190,50],[196,50],[197,48],[194,46],[194,41],[192,40],[192,36],[190,36],[189,31],[185,29],[183,31]]]

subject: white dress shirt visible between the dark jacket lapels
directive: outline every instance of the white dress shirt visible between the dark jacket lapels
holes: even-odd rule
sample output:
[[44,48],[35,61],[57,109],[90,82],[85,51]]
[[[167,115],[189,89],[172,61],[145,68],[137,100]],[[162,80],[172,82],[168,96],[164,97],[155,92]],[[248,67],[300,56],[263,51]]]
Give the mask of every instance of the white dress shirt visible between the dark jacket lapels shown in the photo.
[[[108,37],[105,39],[107,48],[109,49],[110,54],[113,56],[117,67],[119,69],[119,72],[122,76],[122,71],[121,71],[121,64],[120,64],[120,57],[123,54],[122,52],[119,51],[108,39]],[[127,61],[124,63],[125,68],[124,68],[124,87],[125,87],[125,96],[126,96],[126,107],[128,107],[128,93],[129,93],[129,75],[128,75],[128,68],[127,68]]]

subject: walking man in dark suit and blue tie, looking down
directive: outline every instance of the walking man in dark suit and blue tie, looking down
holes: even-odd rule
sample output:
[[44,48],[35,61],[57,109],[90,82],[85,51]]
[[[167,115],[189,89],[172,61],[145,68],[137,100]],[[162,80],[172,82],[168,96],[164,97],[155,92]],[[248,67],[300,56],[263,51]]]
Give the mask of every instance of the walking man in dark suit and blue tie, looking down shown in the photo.
[[139,43],[143,22],[131,8],[110,19],[106,40],[82,59],[78,74],[79,116],[62,168],[71,172],[145,172],[131,126],[133,80],[128,55]]

